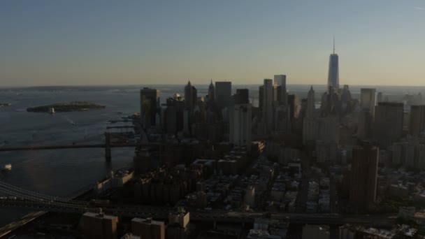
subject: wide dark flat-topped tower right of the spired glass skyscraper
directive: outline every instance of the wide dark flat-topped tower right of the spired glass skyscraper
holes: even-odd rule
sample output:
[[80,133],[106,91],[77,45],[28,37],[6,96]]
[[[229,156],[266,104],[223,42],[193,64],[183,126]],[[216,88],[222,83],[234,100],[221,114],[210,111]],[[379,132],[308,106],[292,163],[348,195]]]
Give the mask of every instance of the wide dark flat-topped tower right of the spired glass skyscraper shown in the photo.
[[373,137],[387,147],[403,136],[403,103],[380,102],[375,106]]

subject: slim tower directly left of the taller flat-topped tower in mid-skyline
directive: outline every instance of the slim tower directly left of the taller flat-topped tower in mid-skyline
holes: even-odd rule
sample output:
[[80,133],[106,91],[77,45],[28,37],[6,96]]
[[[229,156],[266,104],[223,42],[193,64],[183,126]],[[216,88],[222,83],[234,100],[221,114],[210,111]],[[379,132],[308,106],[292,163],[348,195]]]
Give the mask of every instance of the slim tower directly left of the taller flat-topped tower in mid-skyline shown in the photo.
[[261,108],[264,122],[264,133],[269,134],[273,128],[273,80],[264,79],[263,106]]

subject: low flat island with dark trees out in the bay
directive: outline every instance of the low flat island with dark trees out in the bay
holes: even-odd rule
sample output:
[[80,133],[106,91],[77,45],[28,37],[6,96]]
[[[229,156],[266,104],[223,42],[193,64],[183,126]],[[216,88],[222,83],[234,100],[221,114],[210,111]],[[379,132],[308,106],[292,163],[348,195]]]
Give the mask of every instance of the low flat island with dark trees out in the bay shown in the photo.
[[49,113],[49,109],[54,108],[55,112],[72,112],[72,111],[87,111],[87,110],[99,110],[105,108],[95,103],[87,101],[71,101],[69,103],[54,103],[48,106],[36,106],[27,108],[28,112],[41,112]]

